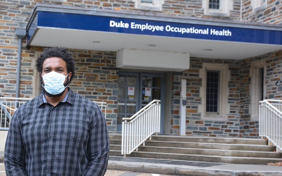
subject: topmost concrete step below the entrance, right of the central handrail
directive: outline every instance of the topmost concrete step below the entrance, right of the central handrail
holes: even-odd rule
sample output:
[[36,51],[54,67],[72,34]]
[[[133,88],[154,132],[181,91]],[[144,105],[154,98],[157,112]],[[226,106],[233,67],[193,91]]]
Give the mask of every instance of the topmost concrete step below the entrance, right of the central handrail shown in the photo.
[[200,137],[200,136],[172,136],[172,135],[155,136],[153,135],[152,140],[153,141],[175,141],[175,142],[268,145],[268,140],[265,140],[265,139],[232,138],[232,137]]

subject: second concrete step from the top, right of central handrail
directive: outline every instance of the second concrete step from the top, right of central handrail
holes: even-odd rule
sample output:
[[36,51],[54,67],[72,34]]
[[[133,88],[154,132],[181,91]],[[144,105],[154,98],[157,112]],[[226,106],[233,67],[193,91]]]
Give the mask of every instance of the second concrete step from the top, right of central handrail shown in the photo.
[[146,141],[145,146],[206,148],[206,149],[222,149],[222,150],[250,150],[252,149],[252,151],[264,151],[264,152],[273,152],[276,150],[275,146],[268,146],[268,145],[174,142],[174,141]]

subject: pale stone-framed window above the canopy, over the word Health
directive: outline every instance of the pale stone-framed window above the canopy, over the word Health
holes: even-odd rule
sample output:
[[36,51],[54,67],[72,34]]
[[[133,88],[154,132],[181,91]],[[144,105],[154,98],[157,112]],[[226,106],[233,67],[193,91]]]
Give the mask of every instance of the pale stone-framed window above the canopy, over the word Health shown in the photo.
[[233,10],[233,0],[202,0],[206,15],[230,16]]

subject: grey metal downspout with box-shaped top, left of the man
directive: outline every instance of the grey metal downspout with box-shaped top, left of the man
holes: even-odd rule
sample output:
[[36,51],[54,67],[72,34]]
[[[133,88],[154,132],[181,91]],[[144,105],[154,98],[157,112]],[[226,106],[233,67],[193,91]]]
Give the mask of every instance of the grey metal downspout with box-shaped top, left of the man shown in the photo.
[[[22,39],[26,35],[25,28],[16,28],[16,36],[19,38],[19,44],[18,44],[18,58],[17,58],[17,83],[16,83],[16,98],[19,98],[19,83],[20,83],[20,76],[21,76],[21,44]],[[16,103],[16,107],[17,107]]]

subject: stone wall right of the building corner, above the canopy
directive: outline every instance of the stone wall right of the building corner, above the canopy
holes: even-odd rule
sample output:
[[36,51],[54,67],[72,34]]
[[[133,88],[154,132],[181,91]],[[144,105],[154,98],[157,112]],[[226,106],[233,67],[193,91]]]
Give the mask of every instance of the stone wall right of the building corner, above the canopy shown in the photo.
[[[258,1],[258,0],[257,0]],[[267,5],[253,8],[252,0],[242,0],[241,19],[244,22],[281,24],[282,0],[266,0]]]

